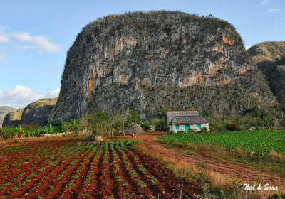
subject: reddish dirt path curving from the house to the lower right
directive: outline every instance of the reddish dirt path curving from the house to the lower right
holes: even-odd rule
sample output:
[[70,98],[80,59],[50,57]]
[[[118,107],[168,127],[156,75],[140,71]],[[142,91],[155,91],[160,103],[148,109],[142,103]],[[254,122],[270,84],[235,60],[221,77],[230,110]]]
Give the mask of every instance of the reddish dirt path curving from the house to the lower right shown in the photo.
[[147,149],[151,151],[156,151],[157,154],[162,156],[170,156],[171,158],[177,159],[179,161],[187,161],[189,163],[204,163],[208,171],[215,171],[217,173],[227,174],[229,176],[237,177],[245,182],[258,181],[259,176],[263,176],[264,183],[269,183],[270,185],[280,186],[281,183],[284,183],[284,179],[281,179],[277,176],[272,176],[266,173],[261,173],[255,171],[252,168],[246,168],[244,166],[239,166],[234,163],[227,163],[224,161],[219,161],[214,158],[206,156],[205,153],[198,153],[199,156],[187,156],[184,154],[179,154],[170,149],[166,149],[162,144],[153,141],[157,136],[162,136],[167,134],[167,132],[156,132],[152,134],[140,134],[138,140],[142,142]]

